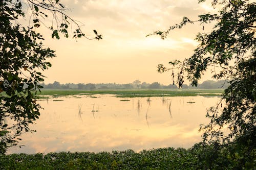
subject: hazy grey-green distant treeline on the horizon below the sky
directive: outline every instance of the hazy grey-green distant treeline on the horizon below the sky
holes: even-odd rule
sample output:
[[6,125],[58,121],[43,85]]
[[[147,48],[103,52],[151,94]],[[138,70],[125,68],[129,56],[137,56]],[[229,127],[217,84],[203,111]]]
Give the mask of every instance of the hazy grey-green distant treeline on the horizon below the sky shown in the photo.
[[[146,83],[139,80],[135,80],[133,83],[128,84],[116,84],[116,83],[66,83],[60,84],[55,81],[54,83],[49,84],[40,84],[44,87],[44,89],[86,89],[86,90],[94,90],[94,89],[177,89],[178,87],[174,84],[162,85],[158,82],[154,83]],[[198,84],[197,87],[193,87],[191,85],[183,85],[183,89],[218,89],[218,88],[226,88],[228,83],[225,80],[212,81],[207,80],[202,84]]]

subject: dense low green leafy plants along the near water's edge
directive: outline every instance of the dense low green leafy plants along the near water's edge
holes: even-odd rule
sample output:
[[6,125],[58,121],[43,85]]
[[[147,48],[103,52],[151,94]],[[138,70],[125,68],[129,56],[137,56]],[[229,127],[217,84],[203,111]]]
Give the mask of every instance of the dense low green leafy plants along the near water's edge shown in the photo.
[[[214,147],[213,147],[214,148]],[[110,152],[59,152],[43,154],[0,155],[1,169],[234,169],[237,157],[218,152],[215,160],[207,160],[211,147],[196,144],[192,149],[159,148]],[[210,161],[210,163],[208,162]],[[209,165],[210,164],[210,165]],[[210,166],[210,168],[208,168]],[[243,169],[253,169],[247,164]],[[204,168],[207,167],[207,168]]]

